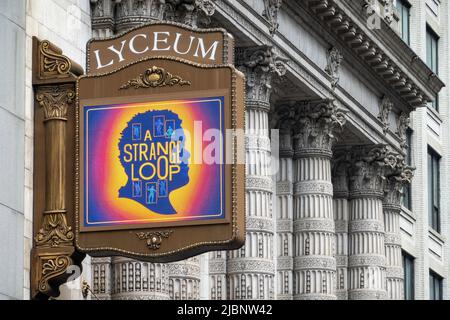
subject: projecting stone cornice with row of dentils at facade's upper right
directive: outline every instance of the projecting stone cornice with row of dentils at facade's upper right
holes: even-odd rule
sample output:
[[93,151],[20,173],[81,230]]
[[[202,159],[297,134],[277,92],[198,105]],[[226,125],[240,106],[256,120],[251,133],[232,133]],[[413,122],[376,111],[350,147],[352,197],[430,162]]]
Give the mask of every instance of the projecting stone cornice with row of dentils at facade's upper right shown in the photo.
[[[417,59],[415,63],[411,60],[408,65],[408,67],[411,67],[412,64],[415,70],[414,74],[419,76],[418,78],[413,78],[404,71],[402,66],[397,64],[396,58],[391,57],[391,52],[382,49],[374,41],[375,36],[372,32],[369,32],[370,30],[366,31],[360,27],[359,21],[356,22],[349,15],[348,7],[352,7],[353,10],[354,6],[359,6],[359,9],[354,10],[358,10],[361,13],[364,10],[361,10],[360,3],[364,1],[306,0],[304,3],[330,32],[342,39],[361,60],[377,73],[388,86],[392,87],[413,109],[426,105],[440,91],[444,83],[435,75],[432,76],[431,70],[420,59]],[[363,14],[361,14],[361,20],[363,19],[367,19],[367,17],[363,17]],[[394,37],[395,32],[389,26],[386,26],[386,29],[392,33],[390,37]],[[402,42],[398,35],[395,35],[395,37],[396,42]],[[426,77],[424,77],[425,73],[427,74]]]

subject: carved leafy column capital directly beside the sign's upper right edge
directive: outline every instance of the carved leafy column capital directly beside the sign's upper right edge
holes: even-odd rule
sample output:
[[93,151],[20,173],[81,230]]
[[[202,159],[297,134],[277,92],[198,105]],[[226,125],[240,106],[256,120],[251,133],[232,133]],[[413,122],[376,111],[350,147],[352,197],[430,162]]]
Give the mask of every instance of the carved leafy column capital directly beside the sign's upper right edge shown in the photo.
[[286,61],[270,46],[236,49],[236,65],[247,81],[247,108],[270,110],[272,77],[286,74]]

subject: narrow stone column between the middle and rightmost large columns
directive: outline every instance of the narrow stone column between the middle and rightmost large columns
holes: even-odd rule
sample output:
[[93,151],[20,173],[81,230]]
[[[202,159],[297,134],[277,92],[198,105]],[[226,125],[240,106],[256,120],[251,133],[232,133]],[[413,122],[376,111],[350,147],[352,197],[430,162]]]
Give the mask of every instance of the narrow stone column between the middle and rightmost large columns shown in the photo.
[[336,298],[348,299],[349,150],[335,151],[333,157],[333,214],[336,230]]

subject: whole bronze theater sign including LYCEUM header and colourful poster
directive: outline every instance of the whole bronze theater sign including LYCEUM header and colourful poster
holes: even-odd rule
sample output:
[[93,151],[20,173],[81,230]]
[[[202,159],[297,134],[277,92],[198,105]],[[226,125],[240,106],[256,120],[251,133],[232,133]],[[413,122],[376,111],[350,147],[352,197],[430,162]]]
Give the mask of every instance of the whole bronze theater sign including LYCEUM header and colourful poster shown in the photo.
[[[42,49],[43,42],[35,43]],[[40,50],[35,64],[60,54],[53,49],[47,56]],[[244,147],[236,132],[244,128],[244,79],[229,64],[233,52],[222,29],[159,23],[90,41],[86,75],[75,76],[69,66],[73,109],[55,126],[67,126],[60,160],[71,156],[73,166],[66,166],[63,182],[56,173],[35,177],[36,187],[65,184],[60,196],[68,203],[47,208],[36,199],[35,215],[42,208],[44,224],[56,213],[66,219],[72,263],[77,253],[170,262],[242,246]],[[40,83],[36,76],[35,87]],[[37,140],[52,144],[48,123],[38,122]],[[35,161],[47,160],[37,148]],[[53,171],[52,161],[44,172]],[[34,247],[43,268],[48,250],[37,241]],[[51,279],[44,282],[51,287]]]

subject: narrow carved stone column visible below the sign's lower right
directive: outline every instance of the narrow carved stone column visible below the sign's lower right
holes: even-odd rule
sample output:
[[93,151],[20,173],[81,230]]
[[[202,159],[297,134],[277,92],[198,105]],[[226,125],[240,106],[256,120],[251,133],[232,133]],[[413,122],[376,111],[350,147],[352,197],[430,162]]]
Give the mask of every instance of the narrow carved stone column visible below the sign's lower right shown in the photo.
[[199,257],[169,263],[169,296],[171,300],[200,299]]

